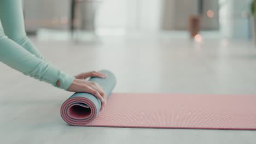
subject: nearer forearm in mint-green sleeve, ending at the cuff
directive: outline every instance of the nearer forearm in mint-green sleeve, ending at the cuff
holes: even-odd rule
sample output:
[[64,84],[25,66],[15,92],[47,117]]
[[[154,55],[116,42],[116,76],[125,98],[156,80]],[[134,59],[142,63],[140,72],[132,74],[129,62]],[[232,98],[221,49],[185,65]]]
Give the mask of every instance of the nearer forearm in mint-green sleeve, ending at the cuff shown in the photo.
[[[51,63],[32,55],[19,44],[5,37],[1,32],[0,61],[25,75],[30,75],[35,79],[51,83],[62,89],[67,90],[74,80],[73,76],[63,73]],[[60,86],[56,85],[57,81],[60,82]]]

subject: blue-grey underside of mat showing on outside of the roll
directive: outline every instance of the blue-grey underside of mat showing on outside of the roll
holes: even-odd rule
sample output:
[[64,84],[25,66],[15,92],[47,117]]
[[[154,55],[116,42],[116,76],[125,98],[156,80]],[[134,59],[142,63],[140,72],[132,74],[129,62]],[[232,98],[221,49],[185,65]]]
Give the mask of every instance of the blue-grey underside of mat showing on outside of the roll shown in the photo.
[[[96,82],[96,83],[100,84],[100,86],[104,88],[104,92],[106,93],[107,98],[108,98],[109,95],[112,93],[113,88],[115,87],[115,84],[117,81],[115,79],[114,74],[111,73],[110,71],[101,70],[101,73],[107,74],[108,77],[103,78],[103,79],[99,78],[99,77],[91,77],[91,79],[89,79],[89,81]],[[94,95],[92,95],[90,93],[74,93],[73,95],[71,95],[70,98],[74,98],[74,97],[82,97],[82,98],[89,99],[90,101],[92,101],[92,103],[95,104],[95,106],[97,108],[97,114],[98,114],[98,112],[100,112],[101,101],[98,100]],[[83,103],[78,103],[78,105],[84,105],[84,106],[88,107],[87,105],[85,105]]]

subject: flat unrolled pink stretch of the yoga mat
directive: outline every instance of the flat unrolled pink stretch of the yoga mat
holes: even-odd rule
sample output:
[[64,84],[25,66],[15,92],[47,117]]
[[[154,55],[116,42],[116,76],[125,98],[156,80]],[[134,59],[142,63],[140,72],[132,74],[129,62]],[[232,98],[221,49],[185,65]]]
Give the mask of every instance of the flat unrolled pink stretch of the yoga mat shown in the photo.
[[113,93],[97,127],[256,130],[256,95]]

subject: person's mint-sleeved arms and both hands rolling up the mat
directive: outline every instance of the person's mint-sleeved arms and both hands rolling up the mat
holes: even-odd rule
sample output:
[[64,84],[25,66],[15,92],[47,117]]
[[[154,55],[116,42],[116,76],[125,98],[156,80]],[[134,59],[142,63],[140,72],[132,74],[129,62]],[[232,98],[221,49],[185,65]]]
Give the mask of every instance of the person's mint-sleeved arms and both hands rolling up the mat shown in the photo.
[[85,77],[107,77],[100,72],[71,76],[51,64],[27,38],[24,26],[22,1],[0,1],[0,61],[25,75],[71,92],[92,93],[106,105],[106,93],[95,82]]

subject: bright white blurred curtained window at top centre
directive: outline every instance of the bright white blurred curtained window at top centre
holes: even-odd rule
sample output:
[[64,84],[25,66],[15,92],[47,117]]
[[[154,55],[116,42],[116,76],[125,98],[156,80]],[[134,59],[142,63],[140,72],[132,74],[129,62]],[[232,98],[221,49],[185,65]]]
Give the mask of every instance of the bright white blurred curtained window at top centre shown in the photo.
[[104,0],[98,9],[97,27],[125,31],[159,31],[162,0]]

